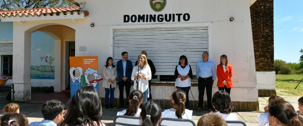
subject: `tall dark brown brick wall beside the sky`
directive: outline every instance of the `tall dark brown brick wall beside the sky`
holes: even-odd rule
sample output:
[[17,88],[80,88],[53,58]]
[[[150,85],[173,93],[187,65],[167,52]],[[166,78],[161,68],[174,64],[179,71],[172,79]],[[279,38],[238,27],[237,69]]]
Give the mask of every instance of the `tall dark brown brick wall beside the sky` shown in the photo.
[[257,0],[250,15],[256,71],[274,71],[274,1]]

